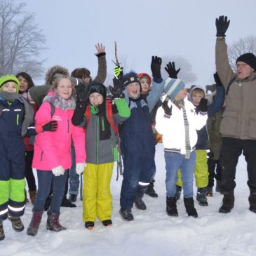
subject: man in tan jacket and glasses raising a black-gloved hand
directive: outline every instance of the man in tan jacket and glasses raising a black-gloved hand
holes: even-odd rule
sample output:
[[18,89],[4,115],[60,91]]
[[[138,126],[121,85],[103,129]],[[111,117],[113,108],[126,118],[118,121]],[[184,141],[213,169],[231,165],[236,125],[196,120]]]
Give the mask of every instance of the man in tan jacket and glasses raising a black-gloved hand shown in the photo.
[[229,213],[234,208],[236,165],[243,152],[250,188],[249,210],[256,213],[256,57],[252,53],[241,55],[236,60],[236,73],[232,71],[224,39],[228,27],[227,16],[216,19],[216,69],[226,89],[226,109],[220,124],[220,190],[224,197],[219,212]]

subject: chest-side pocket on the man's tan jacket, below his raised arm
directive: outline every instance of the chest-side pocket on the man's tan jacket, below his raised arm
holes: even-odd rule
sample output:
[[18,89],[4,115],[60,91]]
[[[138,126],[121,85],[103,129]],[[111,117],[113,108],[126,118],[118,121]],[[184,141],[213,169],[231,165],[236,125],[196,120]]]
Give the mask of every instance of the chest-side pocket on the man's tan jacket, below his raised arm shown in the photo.
[[220,133],[224,136],[234,136],[237,130],[237,113],[225,111],[220,123]]

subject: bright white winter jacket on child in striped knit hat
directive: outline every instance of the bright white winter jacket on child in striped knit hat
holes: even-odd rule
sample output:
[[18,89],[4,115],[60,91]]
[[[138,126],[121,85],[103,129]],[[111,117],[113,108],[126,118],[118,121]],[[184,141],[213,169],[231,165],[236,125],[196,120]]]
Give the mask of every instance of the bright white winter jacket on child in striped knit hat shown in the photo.
[[[163,135],[163,147],[166,151],[179,151],[180,154],[185,154],[185,129],[184,129],[184,118],[183,111],[179,109],[173,102],[169,102],[172,106],[172,115],[170,118],[164,117],[163,109],[160,108],[156,114],[156,130]],[[189,121],[189,142],[191,151],[197,142],[196,130],[200,130],[206,125],[208,116],[206,114],[198,113],[194,105],[184,99],[184,106],[187,113],[187,119]]]

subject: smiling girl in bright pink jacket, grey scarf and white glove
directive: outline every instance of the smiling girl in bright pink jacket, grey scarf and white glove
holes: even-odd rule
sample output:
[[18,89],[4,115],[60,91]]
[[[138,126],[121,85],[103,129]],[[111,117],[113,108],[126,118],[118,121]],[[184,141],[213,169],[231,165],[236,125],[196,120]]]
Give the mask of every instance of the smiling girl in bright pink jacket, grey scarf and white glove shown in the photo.
[[55,132],[43,132],[36,135],[34,142],[32,167],[37,171],[38,191],[34,202],[33,217],[27,229],[27,234],[30,236],[36,236],[38,232],[43,206],[52,182],[53,196],[47,213],[46,228],[56,232],[66,229],[60,225],[59,215],[67,170],[72,165],[70,151],[72,141],[76,153],[76,173],[82,173],[85,167],[85,131],[72,124],[72,116],[76,107],[76,101],[72,96],[73,91],[74,85],[69,77],[58,76],[53,81],[52,90],[43,99],[43,104],[36,112],[36,123],[42,125],[55,120],[58,122],[58,128]]

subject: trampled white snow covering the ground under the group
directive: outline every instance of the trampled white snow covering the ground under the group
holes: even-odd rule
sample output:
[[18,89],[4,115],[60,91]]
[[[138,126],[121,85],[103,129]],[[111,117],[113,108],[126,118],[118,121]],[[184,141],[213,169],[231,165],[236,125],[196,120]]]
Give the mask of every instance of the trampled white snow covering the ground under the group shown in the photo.
[[195,203],[197,219],[187,217],[182,197],[177,203],[179,217],[168,217],[162,144],[156,146],[156,168],[155,188],[159,198],[144,196],[147,210],[133,208],[133,222],[125,222],[119,215],[122,177],[116,182],[115,167],[112,227],[104,227],[97,221],[93,231],[85,229],[81,219],[82,202],[77,201],[76,208],[61,208],[60,223],[67,227],[66,231],[55,233],[46,230],[44,213],[37,236],[27,236],[26,229],[32,217],[32,204],[27,203],[22,217],[24,231],[16,233],[11,222],[3,222],[6,238],[0,241],[0,256],[256,255],[256,215],[248,210],[249,189],[243,156],[237,166],[235,206],[227,215],[218,213],[222,196],[214,191],[213,197],[208,198],[208,207]]

